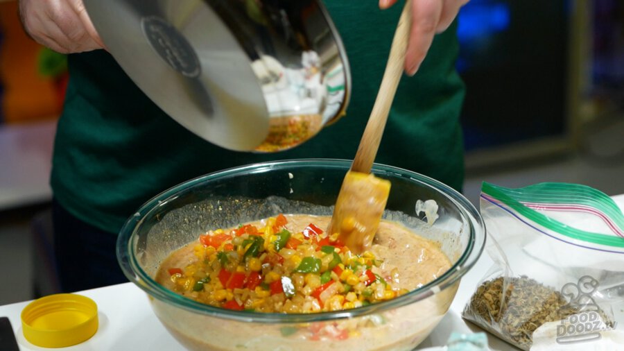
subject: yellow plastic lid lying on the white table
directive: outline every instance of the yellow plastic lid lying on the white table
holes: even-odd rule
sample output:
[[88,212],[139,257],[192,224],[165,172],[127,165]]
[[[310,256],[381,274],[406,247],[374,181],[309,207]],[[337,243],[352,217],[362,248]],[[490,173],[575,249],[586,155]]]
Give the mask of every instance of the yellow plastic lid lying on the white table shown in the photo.
[[98,306],[73,293],[45,296],[21,311],[21,328],[26,340],[42,348],[76,345],[97,332]]

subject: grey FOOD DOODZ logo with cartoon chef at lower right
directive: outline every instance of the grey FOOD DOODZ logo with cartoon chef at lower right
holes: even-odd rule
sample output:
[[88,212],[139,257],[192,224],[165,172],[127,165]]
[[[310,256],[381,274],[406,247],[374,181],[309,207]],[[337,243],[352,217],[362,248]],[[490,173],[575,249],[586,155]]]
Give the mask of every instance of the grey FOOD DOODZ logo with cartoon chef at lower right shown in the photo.
[[603,311],[594,302],[592,295],[598,289],[598,280],[584,275],[576,284],[562,286],[561,295],[567,298],[568,304],[562,309],[574,311],[557,325],[557,343],[584,343],[599,340],[600,332],[615,329],[616,323],[606,320]]

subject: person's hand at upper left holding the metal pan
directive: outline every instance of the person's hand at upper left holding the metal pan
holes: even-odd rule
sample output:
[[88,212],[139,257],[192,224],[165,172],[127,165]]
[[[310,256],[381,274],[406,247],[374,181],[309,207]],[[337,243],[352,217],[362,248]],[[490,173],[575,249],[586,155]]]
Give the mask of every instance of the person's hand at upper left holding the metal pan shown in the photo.
[[19,17],[35,42],[59,53],[104,47],[83,0],[19,0]]

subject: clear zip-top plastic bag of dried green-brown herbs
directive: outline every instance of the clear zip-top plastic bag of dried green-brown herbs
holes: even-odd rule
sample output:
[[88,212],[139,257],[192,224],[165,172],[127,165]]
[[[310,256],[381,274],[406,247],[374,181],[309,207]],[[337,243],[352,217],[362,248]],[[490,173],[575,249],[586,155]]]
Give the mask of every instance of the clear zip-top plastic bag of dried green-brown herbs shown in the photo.
[[462,316],[522,350],[537,346],[538,329],[544,350],[603,348],[600,336],[624,323],[624,216],[614,200],[584,185],[486,182],[480,212],[494,267]]

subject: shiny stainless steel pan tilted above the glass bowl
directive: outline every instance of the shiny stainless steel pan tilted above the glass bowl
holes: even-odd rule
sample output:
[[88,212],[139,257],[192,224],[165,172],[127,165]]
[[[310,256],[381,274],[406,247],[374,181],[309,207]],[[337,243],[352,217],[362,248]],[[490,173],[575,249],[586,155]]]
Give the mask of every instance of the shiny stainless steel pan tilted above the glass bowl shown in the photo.
[[347,56],[320,1],[85,0],[85,7],[145,94],[218,146],[297,146],[349,101]]

